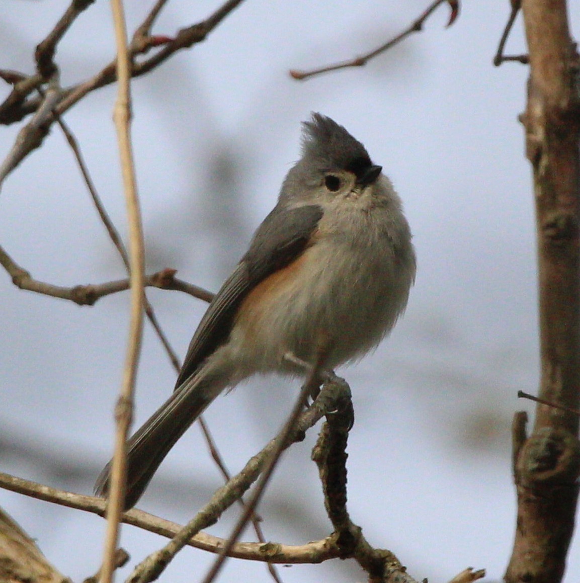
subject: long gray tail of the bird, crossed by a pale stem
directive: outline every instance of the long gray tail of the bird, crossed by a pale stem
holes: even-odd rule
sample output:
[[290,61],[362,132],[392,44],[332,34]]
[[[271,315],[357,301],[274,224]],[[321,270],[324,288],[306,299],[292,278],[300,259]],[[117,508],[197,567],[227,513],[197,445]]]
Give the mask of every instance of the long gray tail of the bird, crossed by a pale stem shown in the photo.
[[[190,377],[129,438],[125,510],[137,503],[169,450],[225,386],[208,375]],[[97,496],[107,497],[110,471],[108,462],[94,486]]]

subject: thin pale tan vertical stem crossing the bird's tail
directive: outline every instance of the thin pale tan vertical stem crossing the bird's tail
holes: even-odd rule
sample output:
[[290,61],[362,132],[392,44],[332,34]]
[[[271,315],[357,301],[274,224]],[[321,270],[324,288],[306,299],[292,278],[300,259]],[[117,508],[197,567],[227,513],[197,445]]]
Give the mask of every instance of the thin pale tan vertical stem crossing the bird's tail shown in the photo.
[[122,0],[111,0],[111,9],[115,23],[115,40],[117,43],[117,79],[118,93],[115,103],[114,120],[117,128],[119,157],[123,175],[123,185],[129,220],[129,262],[131,265],[131,322],[129,325],[129,342],[125,360],[125,369],[121,395],[115,410],[117,431],[115,434],[115,454],[111,469],[111,488],[107,506],[107,536],[101,570],[101,582],[113,579],[115,568],[115,550],[119,533],[119,523],[125,497],[126,475],[126,438],[131,425],[133,387],[139,361],[141,335],[143,329],[143,294],[144,259],[143,230],[139,201],[135,184],[133,154],[131,148],[131,62],[129,61],[125,15]]

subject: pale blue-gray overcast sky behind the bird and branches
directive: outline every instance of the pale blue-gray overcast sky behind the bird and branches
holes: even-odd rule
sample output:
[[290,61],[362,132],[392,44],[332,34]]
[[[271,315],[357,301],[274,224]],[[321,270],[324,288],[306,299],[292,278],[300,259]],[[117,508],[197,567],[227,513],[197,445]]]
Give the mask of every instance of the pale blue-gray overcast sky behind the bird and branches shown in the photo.
[[[0,68],[33,71],[33,52],[68,2],[2,0]],[[127,2],[129,27],[143,2]],[[404,6],[403,6],[404,4]],[[378,350],[339,371],[353,390],[349,510],[370,542],[417,579],[447,581],[467,566],[500,580],[514,535],[509,424],[537,391],[536,259],[530,168],[523,128],[527,69],[494,68],[508,2],[447,6],[365,68],[290,79],[370,50],[406,27],[426,2],[247,0],[208,39],[133,83],[133,139],[147,269],[216,290],[243,254],[299,157],[300,122],[331,116],[365,144],[405,203],[418,258],[405,317]],[[149,6],[149,3],[145,3]],[[208,16],[209,1],[172,0],[154,28],[172,35]],[[578,22],[575,5],[571,22]],[[59,44],[62,85],[94,75],[114,54],[108,2],[96,2]],[[525,52],[521,22],[508,50]],[[8,94],[2,86],[0,97]],[[125,233],[111,114],[114,87],[65,116],[100,196]],[[17,125],[0,132],[0,157]],[[0,244],[33,276],[57,285],[99,283],[124,271],[57,128],[0,193]],[[90,493],[113,442],[128,294],[94,307],[19,291],[0,276],[2,470]],[[180,356],[205,306],[177,292],[150,300]],[[149,326],[136,423],[173,388],[175,374]],[[208,410],[231,470],[275,435],[297,382],[251,380]],[[326,536],[316,431],[283,459],[261,513],[266,538],[300,544]],[[168,456],[140,507],[185,522],[220,477],[197,428]],[[0,505],[47,557],[78,581],[99,565],[104,522],[0,491]],[[210,532],[226,535],[226,524]],[[245,535],[250,538],[250,533]],[[134,565],[160,546],[125,526]],[[567,581],[580,577],[580,547]],[[185,550],[165,581],[197,581],[211,557]],[[125,572],[128,573],[127,570]],[[286,583],[360,581],[350,562],[280,568]],[[262,565],[229,561],[220,581],[268,581]],[[119,578],[120,579],[120,578]],[[163,579],[162,579],[163,580]]]

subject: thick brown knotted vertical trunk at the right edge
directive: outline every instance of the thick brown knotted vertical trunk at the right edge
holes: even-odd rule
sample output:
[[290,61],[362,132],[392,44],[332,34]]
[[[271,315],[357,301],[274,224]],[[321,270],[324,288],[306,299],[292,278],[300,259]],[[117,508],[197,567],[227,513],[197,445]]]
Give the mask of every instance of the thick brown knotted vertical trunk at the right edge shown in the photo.
[[[541,352],[540,398],[580,402],[579,59],[565,0],[523,0],[529,48],[522,116],[536,201]],[[578,416],[539,404],[533,434],[518,432],[518,522],[508,583],[557,583],[574,529]]]

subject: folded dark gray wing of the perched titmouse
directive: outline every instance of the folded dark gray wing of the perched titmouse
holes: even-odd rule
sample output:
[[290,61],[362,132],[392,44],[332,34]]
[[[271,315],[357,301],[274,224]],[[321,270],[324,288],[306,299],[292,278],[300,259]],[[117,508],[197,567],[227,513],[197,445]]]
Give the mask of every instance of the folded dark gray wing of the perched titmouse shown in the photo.
[[318,205],[284,209],[277,205],[256,230],[248,252],[217,292],[189,343],[175,388],[226,342],[235,314],[249,291],[300,257],[322,217]]

